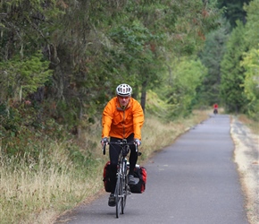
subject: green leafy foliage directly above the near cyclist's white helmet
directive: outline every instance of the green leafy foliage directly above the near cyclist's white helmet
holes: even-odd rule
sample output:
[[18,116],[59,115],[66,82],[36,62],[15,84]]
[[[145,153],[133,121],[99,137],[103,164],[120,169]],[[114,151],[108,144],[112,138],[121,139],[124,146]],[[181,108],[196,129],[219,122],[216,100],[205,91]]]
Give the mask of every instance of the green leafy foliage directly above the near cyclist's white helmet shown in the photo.
[[113,70],[111,69],[110,75],[115,74],[121,82],[132,83],[136,78],[139,80],[139,68],[154,60],[149,43],[161,37],[151,34],[138,21],[114,27],[110,30],[109,37],[116,43],[116,47],[111,50],[113,61],[110,66]]

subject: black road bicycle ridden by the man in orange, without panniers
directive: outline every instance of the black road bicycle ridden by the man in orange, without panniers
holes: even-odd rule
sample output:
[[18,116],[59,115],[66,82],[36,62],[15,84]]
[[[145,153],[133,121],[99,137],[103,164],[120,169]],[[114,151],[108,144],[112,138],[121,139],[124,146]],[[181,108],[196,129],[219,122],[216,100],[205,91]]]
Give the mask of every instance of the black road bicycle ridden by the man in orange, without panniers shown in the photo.
[[[127,168],[127,155],[129,153],[129,145],[134,144],[136,146],[136,151],[138,152],[138,145],[135,142],[127,142],[126,139],[118,142],[108,142],[108,144],[119,144],[121,145],[121,152],[118,159],[118,166],[117,166],[117,182],[114,191],[115,197],[115,207],[116,207],[116,218],[119,218],[120,211],[121,214],[124,214],[125,206],[126,206],[126,199],[127,196],[130,194],[130,188],[128,185],[128,168]],[[103,153],[105,155],[105,146],[103,148]],[[138,155],[141,153],[138,152]]]

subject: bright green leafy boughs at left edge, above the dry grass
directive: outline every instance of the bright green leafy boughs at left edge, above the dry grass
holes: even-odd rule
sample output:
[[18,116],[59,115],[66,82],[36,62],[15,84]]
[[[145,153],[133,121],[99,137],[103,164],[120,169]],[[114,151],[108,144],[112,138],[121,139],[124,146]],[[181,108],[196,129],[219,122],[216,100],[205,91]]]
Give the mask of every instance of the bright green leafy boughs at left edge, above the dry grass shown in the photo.
[[52,75],[48,64],[40,53],[27,58],[16,56],[0,63],[0,79],[4,81],[0,82],[0,100],[13,98],[21,101],[35,92]]

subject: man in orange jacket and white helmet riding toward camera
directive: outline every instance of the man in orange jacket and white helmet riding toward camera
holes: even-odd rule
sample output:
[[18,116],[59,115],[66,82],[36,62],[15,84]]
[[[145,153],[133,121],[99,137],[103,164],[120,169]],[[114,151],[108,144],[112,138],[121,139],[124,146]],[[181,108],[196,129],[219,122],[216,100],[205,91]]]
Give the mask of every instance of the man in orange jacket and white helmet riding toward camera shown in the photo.
[[[120,84],[116,88],[117,96],[111,99],[104,108],[102,124],[102,146],[108,142],[127,139],[127,142],[141,144],[141,127],[144,124],[144,113],[141,105],[131,97],[132,89],[128,84]],[[134,185],[134,168],[138,160],[138,152],[134,144],[129,146],[129,185]],[[117,164],[121,146],[110,146],[110,181],[112,192],[109,197],[109,206],[115,206],[114,190],[116,186]]]

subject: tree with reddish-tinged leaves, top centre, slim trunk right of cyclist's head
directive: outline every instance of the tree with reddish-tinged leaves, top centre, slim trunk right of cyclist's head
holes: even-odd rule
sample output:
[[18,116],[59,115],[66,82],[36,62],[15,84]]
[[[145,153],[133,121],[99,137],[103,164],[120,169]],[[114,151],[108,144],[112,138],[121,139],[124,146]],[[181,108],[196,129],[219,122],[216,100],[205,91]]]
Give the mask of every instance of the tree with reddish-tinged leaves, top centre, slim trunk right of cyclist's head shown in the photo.
[[[159,69],[169,68],[175,56],[190,56],[196,54],[205,42],[205,33],[217,27],[216,18],[219,12],[215,3],[210,4],[196,1],[138,1],[129,10],[131,17],[137,17],[149,32],[163,35],[163,39],[153,39],[147,43],[151,47],[153,63],[140,71],[142,98],[145,101],[146,90],[151,89],[158,79]],[[155,63],[156,62],[156,63]],[[156,65],[156,66],[154,66]],[[157,71],[157,73],[155,73]],[[142,103],[143,105],[143,103]]]

